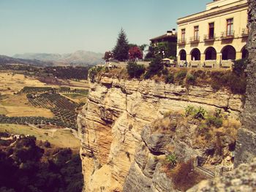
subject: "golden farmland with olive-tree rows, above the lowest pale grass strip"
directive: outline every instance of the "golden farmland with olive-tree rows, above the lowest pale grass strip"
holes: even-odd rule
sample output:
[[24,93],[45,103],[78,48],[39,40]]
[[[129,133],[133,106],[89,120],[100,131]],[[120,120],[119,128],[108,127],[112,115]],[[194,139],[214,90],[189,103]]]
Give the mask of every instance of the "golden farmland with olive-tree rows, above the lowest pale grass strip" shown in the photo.
[[0,71],[1,127],[9,124],[21,129],[77,129],[76,118],[87,99],[86,80],[63,79],[61,85],[52,85],[23,72],[15,73]]

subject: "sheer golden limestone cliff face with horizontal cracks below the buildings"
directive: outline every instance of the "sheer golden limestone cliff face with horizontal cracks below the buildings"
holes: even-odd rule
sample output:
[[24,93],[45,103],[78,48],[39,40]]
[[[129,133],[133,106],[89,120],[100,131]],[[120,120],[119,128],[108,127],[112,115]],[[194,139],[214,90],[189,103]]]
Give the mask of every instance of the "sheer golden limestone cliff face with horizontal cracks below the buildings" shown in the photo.
[[123,191],[129,169],[138,169],[134,160],[143,128],[165,112],[179,112],[188,105],[222,108],[233,117],[242,109],[241,96],[208,86],[185,88],[110,77],[91,83],[88,102],[78,115],[86,191]]

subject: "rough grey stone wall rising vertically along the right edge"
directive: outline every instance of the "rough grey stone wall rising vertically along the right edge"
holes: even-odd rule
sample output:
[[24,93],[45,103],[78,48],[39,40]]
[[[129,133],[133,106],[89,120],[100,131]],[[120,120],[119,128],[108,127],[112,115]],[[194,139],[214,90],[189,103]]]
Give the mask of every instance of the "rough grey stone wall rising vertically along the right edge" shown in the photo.
[[248,2],[249,37],[246,49],[249,52],[249,63],[246,69],[246,101],[241,120],[242,127],[238,132],[235,166],[250,162],[256,156],[256,1]]

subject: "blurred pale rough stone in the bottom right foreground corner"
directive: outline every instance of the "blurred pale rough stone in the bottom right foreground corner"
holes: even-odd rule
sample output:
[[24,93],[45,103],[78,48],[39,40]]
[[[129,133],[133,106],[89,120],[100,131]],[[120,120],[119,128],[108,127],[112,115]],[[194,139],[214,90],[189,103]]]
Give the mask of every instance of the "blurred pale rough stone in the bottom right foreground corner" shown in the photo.
[[187,192],[196,191],[256,191],[256,158],[250,164],[241,164],[225,177],[204,180]]

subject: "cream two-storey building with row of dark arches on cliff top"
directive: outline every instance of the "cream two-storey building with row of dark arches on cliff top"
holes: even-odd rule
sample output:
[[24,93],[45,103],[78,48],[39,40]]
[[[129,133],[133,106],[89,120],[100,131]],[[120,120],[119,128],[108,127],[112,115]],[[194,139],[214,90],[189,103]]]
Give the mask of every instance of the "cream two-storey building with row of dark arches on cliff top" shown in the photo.
[[206,11],[179,18],[178,64],[230,67],[234,60],[246,58],[247,9],[247,0],[215,0]]

